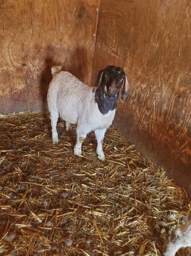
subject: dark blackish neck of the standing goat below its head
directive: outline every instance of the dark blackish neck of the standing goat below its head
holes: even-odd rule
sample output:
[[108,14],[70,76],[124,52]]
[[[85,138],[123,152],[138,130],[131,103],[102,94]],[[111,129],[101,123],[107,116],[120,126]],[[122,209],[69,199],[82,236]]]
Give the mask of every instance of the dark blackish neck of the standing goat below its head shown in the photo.
[[98,105],[98,108],[101,112],[101,114],[107,114],[109,110],[114,110],[117,107],[117,98],[118,94],[116,96],[109,97],[103,88],[99,86],[95,92],[95,102]]

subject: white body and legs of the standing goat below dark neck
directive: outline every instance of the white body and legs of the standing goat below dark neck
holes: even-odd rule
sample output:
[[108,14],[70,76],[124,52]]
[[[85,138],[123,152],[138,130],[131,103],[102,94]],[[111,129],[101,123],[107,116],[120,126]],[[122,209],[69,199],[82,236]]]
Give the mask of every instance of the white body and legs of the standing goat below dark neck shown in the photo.
[[95,131],[97,154],[100,160],[104,160],[103,138],[107,128],[112,125],[116,109],[109,110],[107,114],[101,114],[92,88],[66,71],[61,71],[53,76],[47,100],[52,123],[53,143],[58,143],[56,125],[60,115],[66,121],[66,130],[70,129],[70,123],[77,123],[77,144],[74,154],[82,154],[83,140],[88,133]]

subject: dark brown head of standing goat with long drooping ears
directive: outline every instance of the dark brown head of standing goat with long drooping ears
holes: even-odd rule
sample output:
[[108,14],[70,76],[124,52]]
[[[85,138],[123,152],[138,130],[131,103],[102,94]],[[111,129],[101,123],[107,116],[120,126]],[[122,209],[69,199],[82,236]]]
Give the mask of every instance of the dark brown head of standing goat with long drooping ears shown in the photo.
[[95,92],[99,86],[102,87],[108,98],[117,97],[120,92],[120,99],[124,102],[128,96],[129,83],[124,70],[120,67],[108,66],[100,70],[93,92]]

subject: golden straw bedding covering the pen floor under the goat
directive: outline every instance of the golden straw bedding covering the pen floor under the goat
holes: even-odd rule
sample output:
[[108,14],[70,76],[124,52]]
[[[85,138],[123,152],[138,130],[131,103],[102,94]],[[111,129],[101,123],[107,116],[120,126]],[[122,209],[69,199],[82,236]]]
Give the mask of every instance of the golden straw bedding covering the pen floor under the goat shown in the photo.
[[0,118],[2,255],[163,255],[169,237],[190,220],[190,201],[117,130],[94,134],[73,155],[71,133],[49,114]]

